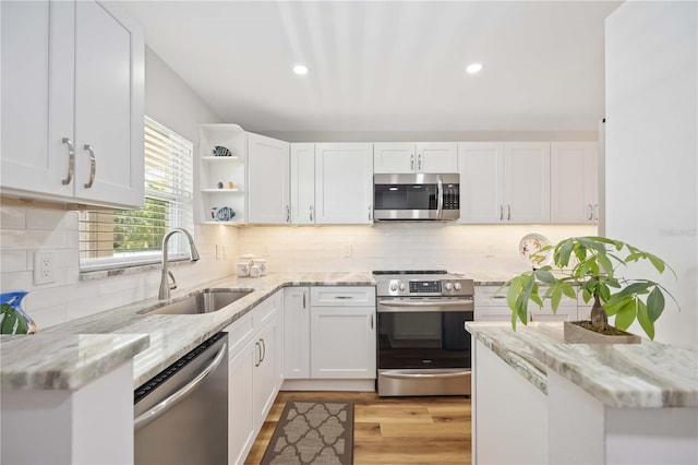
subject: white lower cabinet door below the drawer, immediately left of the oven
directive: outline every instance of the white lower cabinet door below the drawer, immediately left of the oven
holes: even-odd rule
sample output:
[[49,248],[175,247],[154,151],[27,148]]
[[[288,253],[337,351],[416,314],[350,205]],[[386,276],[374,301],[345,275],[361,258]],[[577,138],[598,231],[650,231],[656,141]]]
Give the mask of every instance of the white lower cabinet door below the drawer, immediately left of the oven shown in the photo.
[[311,374],[374,379],[375,307],[311,307]]

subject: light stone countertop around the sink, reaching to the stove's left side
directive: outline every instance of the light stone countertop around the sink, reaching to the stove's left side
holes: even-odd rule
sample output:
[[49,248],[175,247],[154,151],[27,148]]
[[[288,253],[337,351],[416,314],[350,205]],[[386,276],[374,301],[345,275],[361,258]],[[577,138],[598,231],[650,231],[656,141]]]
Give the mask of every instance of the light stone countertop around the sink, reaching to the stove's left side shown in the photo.
[[273,273],[258,278],[231,276],[177,289],[171,300],[203,288],[253,291],[212,313],[139,313],[166,303],[153,297],[52,326],[36,335],[2,336],[0,384],[3,390],[75,390],[135,355],[135,389],[282,287],[373,285],[371,273]]

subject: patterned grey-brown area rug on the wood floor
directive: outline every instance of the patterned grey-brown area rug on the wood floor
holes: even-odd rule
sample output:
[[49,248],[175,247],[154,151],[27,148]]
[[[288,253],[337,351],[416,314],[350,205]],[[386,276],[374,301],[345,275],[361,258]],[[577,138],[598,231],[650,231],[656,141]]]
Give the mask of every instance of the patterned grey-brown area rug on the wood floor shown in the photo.
[[262,465],[351,465],[353,403],[289,401]]

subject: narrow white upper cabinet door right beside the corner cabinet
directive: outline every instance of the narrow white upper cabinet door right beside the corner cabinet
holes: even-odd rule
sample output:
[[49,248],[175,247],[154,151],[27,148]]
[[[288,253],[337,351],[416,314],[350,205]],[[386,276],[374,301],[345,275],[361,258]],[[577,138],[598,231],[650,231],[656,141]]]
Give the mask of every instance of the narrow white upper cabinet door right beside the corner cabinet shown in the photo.
[[315,144],[291,144],[291,224],[315,224]]

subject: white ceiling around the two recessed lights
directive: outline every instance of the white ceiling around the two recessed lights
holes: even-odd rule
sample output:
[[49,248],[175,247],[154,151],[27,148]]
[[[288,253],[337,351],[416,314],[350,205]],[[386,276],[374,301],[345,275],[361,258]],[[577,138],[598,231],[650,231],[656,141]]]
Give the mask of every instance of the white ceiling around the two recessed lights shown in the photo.
[[[615,1],[125,1],[145,41],[252,131],[589,131]],[[484,65],[468,75],[466,64]],[[302,62],[310,72],[291,72]]]

